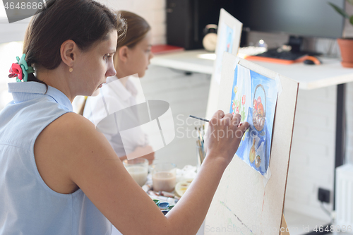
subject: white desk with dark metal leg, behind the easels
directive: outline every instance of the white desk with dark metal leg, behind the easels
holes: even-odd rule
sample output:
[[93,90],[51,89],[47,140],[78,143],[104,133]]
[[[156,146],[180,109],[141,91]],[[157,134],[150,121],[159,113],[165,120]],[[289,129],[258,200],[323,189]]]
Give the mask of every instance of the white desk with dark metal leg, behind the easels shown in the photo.
[[[205,50],[193,50],[156,55],[155,58],[151,60],[151,64],[182,71],[212,74],[214,59],[215,56],[212,56],[212,54]],[[323,64],[318,66],[302,63],[283,65],[262,61],[253,61],[253,63],[280,73],[282,76],[297,80],[297,82],[299,82],[299,89],[301,90],[313,90],[317,88],[325,88],[330,85],[337,85],[335,132],[336,168],[343,164],[345,154],[345,83],[353,81],[353,68],[343,68],[339,59],[321,58],[321,61],[323,61]],[[335,208],[335,200],[333,200],[333,207]]]

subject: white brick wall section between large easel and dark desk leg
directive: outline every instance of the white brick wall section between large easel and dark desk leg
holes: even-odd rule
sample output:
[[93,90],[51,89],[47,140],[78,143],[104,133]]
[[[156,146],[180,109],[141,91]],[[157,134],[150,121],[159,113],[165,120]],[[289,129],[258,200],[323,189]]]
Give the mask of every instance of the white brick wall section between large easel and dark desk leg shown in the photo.
[[299,90],[285,208],[329,222],[318,188],[331,191],[335,167],[336,86]]

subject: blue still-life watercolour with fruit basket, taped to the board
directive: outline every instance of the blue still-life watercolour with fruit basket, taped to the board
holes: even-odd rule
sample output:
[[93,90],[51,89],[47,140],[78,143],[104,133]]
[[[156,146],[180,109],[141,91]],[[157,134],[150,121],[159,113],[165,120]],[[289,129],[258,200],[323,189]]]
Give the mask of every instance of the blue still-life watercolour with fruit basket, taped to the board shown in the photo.
[[229,112],[233,115],[241,114],[241,121],[249,123],[237,156],[265,177],[270,165],[277,94],[275,80],[237,65]]

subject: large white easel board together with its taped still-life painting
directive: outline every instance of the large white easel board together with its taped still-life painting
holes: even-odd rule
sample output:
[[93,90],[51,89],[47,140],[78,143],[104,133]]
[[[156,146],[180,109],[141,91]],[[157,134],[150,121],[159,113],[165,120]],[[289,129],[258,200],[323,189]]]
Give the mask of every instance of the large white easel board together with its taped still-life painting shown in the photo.
[[[263,168],[267,172],[267,176],[259,174],[261,173],[260,165],[256,167],[256,164],[253,163],[256,158],[251,162],[249,152],[244,151],[246,152],[245,156],[234,155],[232,162],[222,176],[210,210],[208,210],[204,231],[205,234],[217,232],[219,234],[244,235],[280,234],[281,224],[284,222],[282,214],[299,83],[225,52],[222,57],[222,78],[217,106],[217,109],[221,109],[225,113],[234,108],[234,78],[237,78],[239,82],[241,77],[246,78],[244,74],[236,73],[236,68],[250,73],[249,78],[251,78],[252,85],[243,86],[243,83],[246,83],[244,79],[243,83],[238,83],[238,85],[245,89],[241,91],[239,97],[243,97],[243,94],[249,94],[246,96],[249,97],[249,104],[246,105],[246,100],[240,102],[243,102],[244,107],[248,108],[248,114],[244,114],[246,116],[244,121],[249,121],[251,128],[257,131],[254,146],[261,146],[262,137],[265,141],[270,141],[268,168]],[[268,83],[265,84],[264,80],[267,80]],[[262,84],[264,89],[261,88],[261,92],[258,92],[258,84],[253,83]],[[254,95],[256,92],[258,95]],[[273,120],[270,114],[266,114],[266,116],[259,114],[270,105],[268,100],[264,99],[265,94],[266,98],[272,97],[271,99],[273,99],[275,97],[276,99],[270,100],[270,103],[275,105],[272,107],[275,110]],[[270,126],[265,131],[272,133],[272,135],[265,133],[261,135],[265,124],[270,124],[271,121],[273,121],[272,131]],[[256,125],[260,131],[256,130]],[[253,141],[253,139],[250,140]],[[251,145],[251,142],[246,144]],[[263,150],[255,149],[255,157],[260,155],[258,153],[261,151]],[[264,152],[262,153],[264,154]],[[261,160],[266,161],[266,159]]]

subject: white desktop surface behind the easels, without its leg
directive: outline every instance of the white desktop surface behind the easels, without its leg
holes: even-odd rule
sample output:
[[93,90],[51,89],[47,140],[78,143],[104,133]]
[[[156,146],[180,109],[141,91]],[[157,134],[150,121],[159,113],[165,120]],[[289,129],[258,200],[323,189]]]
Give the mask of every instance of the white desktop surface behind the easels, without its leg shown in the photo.
[[[208,58],[208,59],[203,59]],[[213,73],[213,61],[215,54],[205,50],[191,50],[171,54],[155,55],[151,64],[182,71],[196,73]],[[299,82],[299,89],[311,90],[324,88],[330,85],[338,85],[353,81],[353,68],[343,68],[339,59],[320,58],[321,65],[297,64],[274,64],[262,61],[252,61],[280,73],[282,76],[292,78]]]

